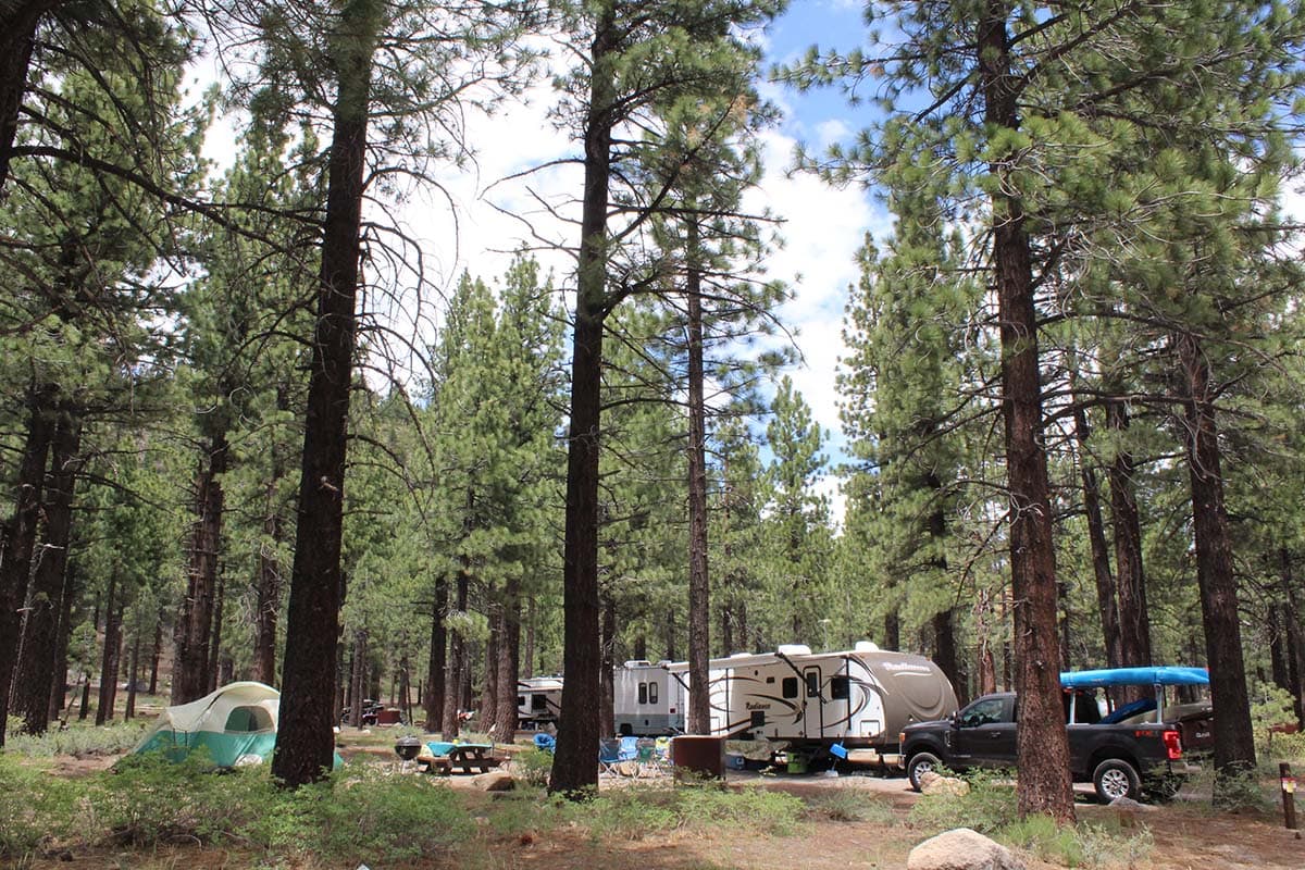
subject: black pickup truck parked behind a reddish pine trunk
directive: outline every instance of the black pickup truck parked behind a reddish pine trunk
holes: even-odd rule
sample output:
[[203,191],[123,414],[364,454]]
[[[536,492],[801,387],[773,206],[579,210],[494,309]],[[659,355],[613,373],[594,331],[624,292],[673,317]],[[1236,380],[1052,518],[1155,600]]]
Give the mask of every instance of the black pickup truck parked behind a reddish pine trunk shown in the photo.
[[[1017,719],[1014,693],[998,693],[971,702],[951,719],[908,725],[902,732],[902,755],[912,788],[919,790],[920,777],[938,767],[1015,767]],[[1066,728],[1074,781],[1091,781],[1105,802],[1139,800],[1143,790],[1172,794],[1185,767],[1182,740],[1173,724],[1075,721]]]

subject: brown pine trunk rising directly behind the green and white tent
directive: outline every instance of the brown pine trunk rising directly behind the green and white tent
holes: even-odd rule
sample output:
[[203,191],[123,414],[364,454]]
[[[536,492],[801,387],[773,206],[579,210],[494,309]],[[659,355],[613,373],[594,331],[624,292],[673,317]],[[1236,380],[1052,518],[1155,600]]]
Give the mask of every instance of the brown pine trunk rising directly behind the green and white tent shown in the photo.
[[224,430],[207,441],[196,485],[194,524],[191,532],[191,558],[187,591],[177,620],[176,655],[172,669],[172,703],[185,704],[209,694],[210,642],[214,595],[218,586],[218,557],[222,547],[222,511],[226,497],[222,476],[230,451]]

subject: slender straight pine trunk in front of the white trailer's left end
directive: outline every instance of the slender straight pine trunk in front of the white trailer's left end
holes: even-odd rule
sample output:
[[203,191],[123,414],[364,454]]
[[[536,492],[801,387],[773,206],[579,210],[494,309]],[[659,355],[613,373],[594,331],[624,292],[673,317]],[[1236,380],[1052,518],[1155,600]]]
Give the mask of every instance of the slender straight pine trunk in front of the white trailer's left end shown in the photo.
[[[690,213],[696,211],[690,206]],[[707,404],[702,370],[702,273],[698,269],[698,224],[690,218],[686,235],[689,333],[689,721],[690,734],[711,733],[711,694],[707,661],[710,586],[707,578]]]

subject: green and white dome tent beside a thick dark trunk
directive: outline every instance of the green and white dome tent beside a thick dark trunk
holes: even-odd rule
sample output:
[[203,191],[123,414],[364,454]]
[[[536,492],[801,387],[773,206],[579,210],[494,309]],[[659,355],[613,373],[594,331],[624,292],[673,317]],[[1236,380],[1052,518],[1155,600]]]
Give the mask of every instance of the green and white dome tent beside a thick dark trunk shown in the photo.
[[217,767],[257,764],[277,746],[281,693],[261,682],[232,682],[188,704],[168,707],[134,753],[181,760],[204,747]]

